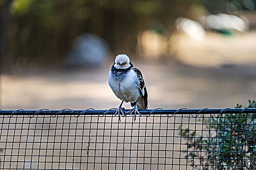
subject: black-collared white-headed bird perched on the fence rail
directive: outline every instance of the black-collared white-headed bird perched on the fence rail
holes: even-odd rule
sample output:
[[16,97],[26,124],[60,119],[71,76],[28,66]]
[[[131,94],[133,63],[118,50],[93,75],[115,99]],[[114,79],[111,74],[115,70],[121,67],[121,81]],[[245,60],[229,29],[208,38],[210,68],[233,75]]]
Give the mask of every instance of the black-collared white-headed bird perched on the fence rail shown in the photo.
[[130,102],[132,110],[130,114],[134,113],[134,121],[138,109],[148,109],[148,92],[142,77],[142,73],[138,68],[135,68],[127,54],[118,54],[115,57],[115,62],[109,70],[108,84],[116,97],[122,102],[118,107],[115,115],[124,115],[122,110],[123,102]]

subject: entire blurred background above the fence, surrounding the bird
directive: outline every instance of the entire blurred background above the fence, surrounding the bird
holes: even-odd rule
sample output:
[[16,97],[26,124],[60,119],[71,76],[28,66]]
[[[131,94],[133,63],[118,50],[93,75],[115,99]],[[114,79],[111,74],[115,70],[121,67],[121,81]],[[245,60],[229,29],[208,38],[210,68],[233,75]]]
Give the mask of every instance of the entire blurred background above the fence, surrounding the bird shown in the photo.
[[[0,0],[1,109],[109,109],[119,53],[149,108],[256,98],[256,0]],[[129,108],[129,104],[124,104]]]

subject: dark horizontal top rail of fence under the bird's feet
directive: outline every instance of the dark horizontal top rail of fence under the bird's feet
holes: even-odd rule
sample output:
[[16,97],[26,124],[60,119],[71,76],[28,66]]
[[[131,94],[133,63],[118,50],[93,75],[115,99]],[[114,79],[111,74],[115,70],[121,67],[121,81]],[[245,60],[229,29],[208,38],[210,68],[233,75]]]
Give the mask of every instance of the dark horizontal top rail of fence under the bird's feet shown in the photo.
[[[74,115],[76,117],[80,115],[114,115],[116,113],[116,108],[111,108],[108,110],[95,110],[93,108],[85,109],[85,110],[71,110],[71,109],[62,109],[62,110],[48,110],[48,109],[40,109],[40,110],[0,110],[0,115],[7,115],[7,116],[13,116],[13,115]],[[129,114],[129,109],[123,110],[125,114]],[[195,114],[195,117],[197,117],[199,114],[213,114],[215,117],[218,117],[220,114],[242,114],[242,113],[256,113],[256,108],[224,108],[224,109],[209,109],[209,108],[203,108],[203,109],[144,109],[139,110],[140,114],[142,115],[164,115],[171,117],[174,114]],[[194,117],[194,116],[193,116]]]

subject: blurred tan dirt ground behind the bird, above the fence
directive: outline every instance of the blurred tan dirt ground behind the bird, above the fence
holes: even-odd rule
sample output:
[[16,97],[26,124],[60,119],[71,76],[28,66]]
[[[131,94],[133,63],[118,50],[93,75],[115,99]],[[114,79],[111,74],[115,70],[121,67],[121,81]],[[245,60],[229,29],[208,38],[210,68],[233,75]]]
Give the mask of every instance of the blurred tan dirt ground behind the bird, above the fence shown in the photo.
[[[256,99],[256,67],[200,68],[176,62],[133,62],[144,76],[149,108],[226,108]],[[2,74],[1,109],[108,109],[118,100],[107,83],[105,67]],[[124,106],[129,108],[129,104]]]

